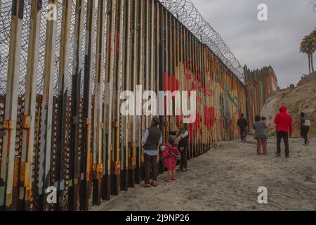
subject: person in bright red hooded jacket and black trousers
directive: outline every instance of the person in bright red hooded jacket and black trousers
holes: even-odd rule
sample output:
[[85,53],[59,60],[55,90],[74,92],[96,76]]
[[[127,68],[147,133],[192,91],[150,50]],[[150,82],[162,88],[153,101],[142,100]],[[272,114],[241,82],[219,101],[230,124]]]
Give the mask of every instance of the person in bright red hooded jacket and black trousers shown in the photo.
[[277,124],[277,157],[281,157],[281,140],[284,140],[285,157],[289,158],[289,136],[293,132],[293,119],[287,113],[287,106],[279,108],[279,113],[275,117],[275,124]]

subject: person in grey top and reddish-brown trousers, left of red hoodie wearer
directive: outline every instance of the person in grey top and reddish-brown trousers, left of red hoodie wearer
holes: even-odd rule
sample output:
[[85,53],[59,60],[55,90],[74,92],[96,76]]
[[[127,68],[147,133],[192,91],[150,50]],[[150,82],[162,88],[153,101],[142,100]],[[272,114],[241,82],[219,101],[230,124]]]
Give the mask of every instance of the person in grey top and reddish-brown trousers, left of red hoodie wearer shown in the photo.
[[268,149],[267,149],[268,136],[267,136],[266,129],[267,129],[267,125],[265,125],[261,121],[260,115],[257,115],[254,122],[254,130],[255,130],[254,139],[257,140],[257,154],[258,155],[262,155],[261,146],[263,148],[263,154],[268,155]]

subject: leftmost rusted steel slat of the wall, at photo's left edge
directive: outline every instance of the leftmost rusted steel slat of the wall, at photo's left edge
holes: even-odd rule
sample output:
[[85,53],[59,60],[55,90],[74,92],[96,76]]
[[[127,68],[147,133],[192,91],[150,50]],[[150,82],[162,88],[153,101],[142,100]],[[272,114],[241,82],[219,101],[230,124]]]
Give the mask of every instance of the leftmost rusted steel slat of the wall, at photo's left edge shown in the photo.
[[23,11],[24,1],[13,0],[6,84],[6,108],[4,114],[4,131],[6,131],[6,136],[3,139],[0,176],[0,210],[11,210],[12,205]]

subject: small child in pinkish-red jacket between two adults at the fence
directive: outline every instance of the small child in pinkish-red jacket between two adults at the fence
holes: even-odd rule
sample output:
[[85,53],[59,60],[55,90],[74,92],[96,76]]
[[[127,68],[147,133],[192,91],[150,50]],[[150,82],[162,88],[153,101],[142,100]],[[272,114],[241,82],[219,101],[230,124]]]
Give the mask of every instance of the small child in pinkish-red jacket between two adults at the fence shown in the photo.
[[177,161],[181,158],[181,155],[173,137],[170,137],[168,143],[162,146],[162,155],[164,157],[164,167],[168,169],[169,174],[168,179],[166,179],[166,183],[176,181],[176,166]]

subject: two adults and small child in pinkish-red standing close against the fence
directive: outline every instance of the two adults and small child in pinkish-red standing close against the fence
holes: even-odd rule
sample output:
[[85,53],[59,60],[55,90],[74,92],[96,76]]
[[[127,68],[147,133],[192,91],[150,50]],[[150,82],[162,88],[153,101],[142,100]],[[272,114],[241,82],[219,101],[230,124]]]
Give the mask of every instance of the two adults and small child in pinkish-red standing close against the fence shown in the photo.
[[[142,146],[145,155],[145,183],[141,184],[143,188],[157,186],[157,158],[159,155],[159,146],[161,146],[164,167],[168,169],[168,178],[166,183],[176,181],[176,171],[187,172],[187,148],[189,132],[187,124],[180,122],[178,131],[169,132],[169,140],[167,143],[162,143],[162,131],[159,129],[159,117],[152,118],[152,123],[146,129],[142,137]],[[176,169],[178,161],[180,166]],[[150,181],[150,172],[152,181]]]

